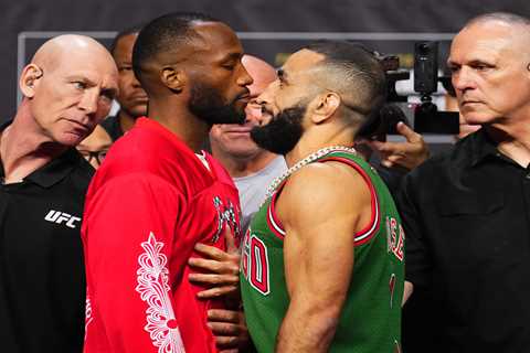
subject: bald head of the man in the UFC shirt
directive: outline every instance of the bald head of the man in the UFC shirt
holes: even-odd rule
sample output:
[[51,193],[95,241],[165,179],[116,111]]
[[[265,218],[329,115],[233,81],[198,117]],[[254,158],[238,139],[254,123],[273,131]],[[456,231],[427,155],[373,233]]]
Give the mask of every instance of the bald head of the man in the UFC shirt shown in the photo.
[[28,126],[45,140],[75,146],[110,110],[118,71],[110,53],[85,35],[45,42],[21,74]]

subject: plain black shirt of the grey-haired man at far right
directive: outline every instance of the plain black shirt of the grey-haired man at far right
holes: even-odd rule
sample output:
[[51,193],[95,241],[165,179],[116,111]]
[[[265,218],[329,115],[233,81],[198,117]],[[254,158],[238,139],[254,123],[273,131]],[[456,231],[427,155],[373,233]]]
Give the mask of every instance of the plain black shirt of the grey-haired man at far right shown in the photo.
[[530,352],[530,170],[481,129],[409,173],[396,202],[417,292],[405,352]]

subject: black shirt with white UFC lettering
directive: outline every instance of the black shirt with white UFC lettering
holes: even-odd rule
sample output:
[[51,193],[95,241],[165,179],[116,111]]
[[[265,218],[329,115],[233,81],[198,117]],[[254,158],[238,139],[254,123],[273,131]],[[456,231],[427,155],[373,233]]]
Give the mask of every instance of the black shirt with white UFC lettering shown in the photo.
[[22,182],[0,184],[1,352],[82,352],[81,216],[93,173],[70,149]]

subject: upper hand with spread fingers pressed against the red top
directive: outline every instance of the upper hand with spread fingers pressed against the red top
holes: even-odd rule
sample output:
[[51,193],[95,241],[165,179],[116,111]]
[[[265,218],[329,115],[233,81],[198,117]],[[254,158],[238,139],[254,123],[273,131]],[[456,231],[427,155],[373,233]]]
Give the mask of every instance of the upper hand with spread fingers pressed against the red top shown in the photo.
[[204,258],[190,258],[188,264],[202,272],[190,274],[189,280],[205,285],[209,289],[200,291],[200,299],[219,298],[221,296],[239,296],[240,289],[240,252],[235,246],[234,235],[226,227],[226,253],[216,247],[197,244],[195,252]]

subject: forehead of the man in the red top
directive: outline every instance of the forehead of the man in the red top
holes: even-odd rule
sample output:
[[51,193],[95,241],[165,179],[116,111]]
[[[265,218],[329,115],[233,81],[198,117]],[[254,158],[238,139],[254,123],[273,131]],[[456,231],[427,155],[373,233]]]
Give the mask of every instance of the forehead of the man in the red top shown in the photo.
[[234,31],[221,22],[200,22],[193,25],[199,35],[197,49],[199,53],[213,58],[222,58],[226,55],[243,55],[243,47]]

